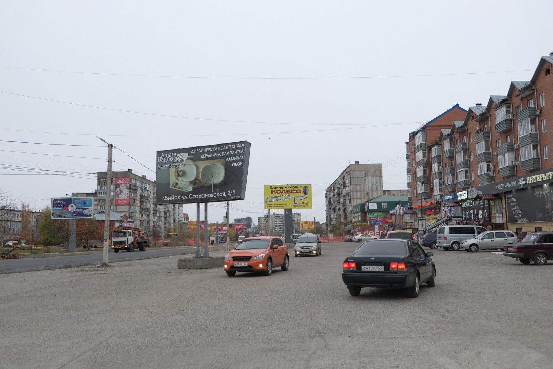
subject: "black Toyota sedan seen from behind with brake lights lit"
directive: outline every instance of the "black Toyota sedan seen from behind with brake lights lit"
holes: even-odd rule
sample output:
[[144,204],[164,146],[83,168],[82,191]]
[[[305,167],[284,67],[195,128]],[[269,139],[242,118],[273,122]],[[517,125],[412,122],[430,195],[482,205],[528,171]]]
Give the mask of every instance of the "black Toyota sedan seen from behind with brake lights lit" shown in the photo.
[[436,285],[436,266],[413,240],[365,241],[342,264],[342,281],[351,296],[362,287],[406,288],[410,297],[419,296],[421,283]]

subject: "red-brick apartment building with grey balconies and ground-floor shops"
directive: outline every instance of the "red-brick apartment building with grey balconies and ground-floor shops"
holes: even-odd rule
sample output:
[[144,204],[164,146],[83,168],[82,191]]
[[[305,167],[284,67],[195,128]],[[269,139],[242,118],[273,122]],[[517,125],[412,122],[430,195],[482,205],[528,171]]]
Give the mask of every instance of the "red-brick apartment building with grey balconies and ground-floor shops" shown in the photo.
[[553,230],[553,128],[547,127],[553,122],[553,53],[541,57],[529,81],[512,81],[507,94],[490,96],[486,106],[475,104],[462,117],[463,109],[455,117],[452,111],[409,135],[413,207],[439,217],[447,207],[464,223],[519,236]]

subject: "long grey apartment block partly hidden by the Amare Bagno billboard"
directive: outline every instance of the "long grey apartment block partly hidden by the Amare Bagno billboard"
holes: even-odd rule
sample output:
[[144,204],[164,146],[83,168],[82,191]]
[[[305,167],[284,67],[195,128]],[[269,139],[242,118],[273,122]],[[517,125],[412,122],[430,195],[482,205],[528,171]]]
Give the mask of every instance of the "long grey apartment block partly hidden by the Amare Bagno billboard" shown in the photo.
[[[98,202],[97,212],[106,209],[107,172],[98,172]],[[129,178],[129,204],[113,204],[114,178]],[[184,222],[182,204],[158,205],[155,203],[155,181],[146,176],[139,176],[129,169],[126,172],[112,172],[111,210],[125,213],[134,224],[144,230],[151,237],[165,237]]]

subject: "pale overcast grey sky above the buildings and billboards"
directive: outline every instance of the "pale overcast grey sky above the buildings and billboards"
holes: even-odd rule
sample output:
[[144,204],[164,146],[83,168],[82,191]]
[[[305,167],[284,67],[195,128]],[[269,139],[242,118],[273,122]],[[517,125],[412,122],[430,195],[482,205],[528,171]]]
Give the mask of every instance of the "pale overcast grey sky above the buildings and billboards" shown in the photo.
[[[343,168],[383,163],[384,188],[406,188],[410,131],[529,80],[553,51],[551,14],[550,0],[3,1],[0,137],[103,145],[98,135],[145,166],[114,150],[113,170],[152,179],[157,150],[248,140],[246,201],[231,203],[231,220],[257,223],[264,184],[311,183],[302,220],[324,222],[325,189]],[[96,189],[95,175],[6,165],[106,170],[105,160],[75,157],[106,158],[105,146],[0,150],[0,188],[37,210]],[[223,205],[210,208],[210,222]],[[195,218],[195,205],[184,210]]]

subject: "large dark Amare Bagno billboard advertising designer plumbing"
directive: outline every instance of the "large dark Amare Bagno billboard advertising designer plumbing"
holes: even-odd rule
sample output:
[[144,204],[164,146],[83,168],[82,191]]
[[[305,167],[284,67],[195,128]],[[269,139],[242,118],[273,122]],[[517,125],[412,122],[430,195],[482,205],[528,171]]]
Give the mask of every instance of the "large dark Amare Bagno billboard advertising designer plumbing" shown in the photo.
[[243,200],[250,146],[248,141],[240,141],[158,151],[157,203]]

